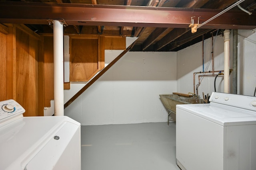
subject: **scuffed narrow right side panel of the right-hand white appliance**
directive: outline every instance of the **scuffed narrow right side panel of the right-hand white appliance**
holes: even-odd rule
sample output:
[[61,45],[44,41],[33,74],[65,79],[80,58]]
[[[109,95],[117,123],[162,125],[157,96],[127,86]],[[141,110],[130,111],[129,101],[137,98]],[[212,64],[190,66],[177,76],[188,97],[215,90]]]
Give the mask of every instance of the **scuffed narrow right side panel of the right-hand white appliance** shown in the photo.
[[256,125],[227,127],[227,170],[256,170]]

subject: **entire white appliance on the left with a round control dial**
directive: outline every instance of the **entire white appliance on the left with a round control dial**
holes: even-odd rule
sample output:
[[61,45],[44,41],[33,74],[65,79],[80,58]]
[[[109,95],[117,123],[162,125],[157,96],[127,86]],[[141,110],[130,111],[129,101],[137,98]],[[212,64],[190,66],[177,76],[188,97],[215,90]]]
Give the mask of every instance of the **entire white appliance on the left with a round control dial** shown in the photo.
[[80,170],[81,126],[66,116],[23,117],[14,100],[0,102],[1,170]]

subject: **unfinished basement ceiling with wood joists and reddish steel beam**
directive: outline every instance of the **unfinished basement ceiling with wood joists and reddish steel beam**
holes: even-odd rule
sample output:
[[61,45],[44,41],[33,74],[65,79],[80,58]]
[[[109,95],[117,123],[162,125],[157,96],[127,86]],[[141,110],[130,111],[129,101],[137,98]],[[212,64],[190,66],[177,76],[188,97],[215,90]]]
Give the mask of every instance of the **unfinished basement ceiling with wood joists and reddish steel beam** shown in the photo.
[[[48,22],[56,19],[57,16],[56,13],[54,13],[56,10],[70,9],[71,13],[74,13],[76,9],[80,9],[79,7],[81,7],[87,12],[92,11],[90,12],[91,20],[93,21],[95,19],[95,22],[91,23],[92,21],[76,19],[79,18],[79,10],[76,15],[69,14],[69,11],[62,12],[59,14],[58,18],[62,18],[62,21],[68,24],[64,27],[64,34],[139,37],[130,51],[178,51],[202,41],[203,37],[206,39],[212,37],[212,35],[216,35],[217,32],[220,34],[222,33],[222,29],[256,28],[256,14],[254,12],[256,8],[255,0],[245,0],[240,4],[242,8],[252,12],[252,15],[249,16],[238,7],[234,7],[232,10],[228,11],[227,14],[225,13],[216,18],[212,24],[198,29],[197,32],[193,34],[188,27],[193,15],[197,15],[194,18],[195,23],[197,23],[198,15],[200,15],[200,23],[203,23],[218,12],[221,12],[228,6],[237,2],[237,0],[14,1],[0,0],[0,23],[23,23],[38,34],[48,34],[53,33],[53,27],[49,25]],[[98,8],[96,9],[96,7]],[[36,10],[33,11],[33,9]],[[40,10],[42,10],[42,12],[40,12]],[[140,10],[143,10],[144,15],[142,15],[142,17],[134,16],[137,17],[136,19],[142,19],[144,23],[137,23],[135,18],[133,18],[133,14],[127,12],[129,10],[134,10],[134,14],[140,13]],[[170,16],[172,16],[172,14],[175,16],[173,17],[176,21],[175,24],[165,23],[167,19],[164,17],[159,18],[158,16],[158,18],[156,18],[152,16],[155,15],[154,12],[158,12],[156,14],[164,14],[166,11],[171,11]],[[115,20],[112,20],[108,14],[112,14],[112,18],[115,18]],[[48,17],[44,19],[45,21],[48,20],[47,22],[42,21],[43,16]],[[67,19],[68,17],[71,19]],[[100,17],[103,19],[96,21]],[[122,22],[122,20],[128,19],[130,19],[130,21],[127,21],[127,23]]]

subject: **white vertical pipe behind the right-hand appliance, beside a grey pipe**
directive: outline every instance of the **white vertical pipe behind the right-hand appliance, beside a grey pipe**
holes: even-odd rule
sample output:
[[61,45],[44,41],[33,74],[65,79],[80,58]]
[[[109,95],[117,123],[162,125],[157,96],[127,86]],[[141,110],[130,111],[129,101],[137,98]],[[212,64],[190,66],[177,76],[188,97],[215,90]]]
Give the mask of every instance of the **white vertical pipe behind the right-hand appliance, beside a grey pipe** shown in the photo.
[[229,93],[229,41],[230,30],[224,31],[224,93]]

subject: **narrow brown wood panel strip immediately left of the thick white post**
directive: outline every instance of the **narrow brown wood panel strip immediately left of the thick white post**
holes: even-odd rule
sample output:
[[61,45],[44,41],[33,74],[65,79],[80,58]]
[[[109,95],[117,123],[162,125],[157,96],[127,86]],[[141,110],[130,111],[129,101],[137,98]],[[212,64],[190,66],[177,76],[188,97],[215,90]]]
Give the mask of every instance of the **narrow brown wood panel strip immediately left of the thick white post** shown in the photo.
[[53,36],[44,36],[44,107],[54,100]]

